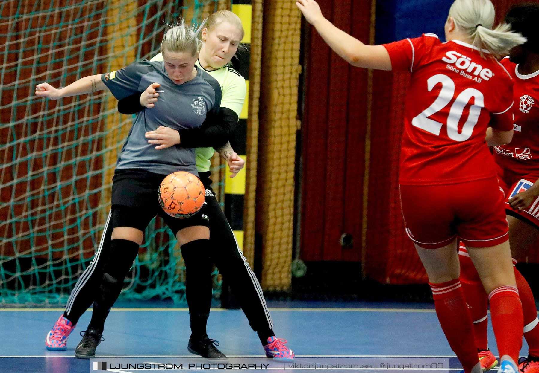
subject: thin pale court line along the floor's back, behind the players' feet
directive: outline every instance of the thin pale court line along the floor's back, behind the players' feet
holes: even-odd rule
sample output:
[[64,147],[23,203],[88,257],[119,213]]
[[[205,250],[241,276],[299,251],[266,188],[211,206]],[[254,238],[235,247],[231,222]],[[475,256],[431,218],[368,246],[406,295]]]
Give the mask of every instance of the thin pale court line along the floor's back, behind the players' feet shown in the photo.
[[[89,308],[92,309],[92,308]],[[268,308],[273,312],[436,312],[434,309],[425,308]],[[0,312],[17,311],[17,312],[47,312],[47,311],[65,311],[65,308],[0,308]],[[189,308],[112,308],[112,312],[128,311],[128,312],[176,312],[189,311]],[[211,308],[211,312],[230,311],[225,308]]]

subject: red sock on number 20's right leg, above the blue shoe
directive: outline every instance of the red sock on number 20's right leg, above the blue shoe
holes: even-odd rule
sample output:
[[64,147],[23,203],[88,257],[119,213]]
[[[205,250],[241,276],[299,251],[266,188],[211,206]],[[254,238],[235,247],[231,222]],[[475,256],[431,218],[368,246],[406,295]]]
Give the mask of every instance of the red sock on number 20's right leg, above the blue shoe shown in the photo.
[[496,287],[488,294],[488,300],[498,353],[500,357],[509,355],[517,362],[522,347],[520,326],[524,325],[519,292],[513,286]]

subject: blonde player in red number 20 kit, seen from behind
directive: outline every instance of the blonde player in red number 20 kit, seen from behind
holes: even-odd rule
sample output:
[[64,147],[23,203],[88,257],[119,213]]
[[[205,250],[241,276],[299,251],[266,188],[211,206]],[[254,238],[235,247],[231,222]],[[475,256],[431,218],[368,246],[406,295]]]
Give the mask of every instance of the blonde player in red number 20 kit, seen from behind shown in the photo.
[[[459,282],[457,240],[469,245],[490,298],[501,372],[514,373],[522,346],[522,305],[516,290],[503,194],[489,145],[510,142],[513,82],[495,59],[524,43],[509,25],[492,30],[489,0],[456,0],[434,34],[368,46],[338,30],[314,0],[296,0],[307,21],[354,66],[407,70],[400,158],[406,232],[425,266],[441,327],[466,373],[481,372],[471,315]],[[492,261],[497,258],[497,262]],[[519,327],[515,327],[519,326]]]

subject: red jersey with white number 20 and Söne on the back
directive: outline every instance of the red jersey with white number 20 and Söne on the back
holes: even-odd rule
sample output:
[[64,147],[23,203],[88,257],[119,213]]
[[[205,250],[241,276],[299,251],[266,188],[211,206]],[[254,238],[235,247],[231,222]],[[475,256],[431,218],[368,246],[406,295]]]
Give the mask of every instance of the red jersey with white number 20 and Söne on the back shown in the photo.
[[[513,81],[493,57],[435,34],[385,44],[393,70],[412,73],[400,154],[402,185],[494,177],[486,130],[513,129]],[[491,121],[492,118],[492,121]]]

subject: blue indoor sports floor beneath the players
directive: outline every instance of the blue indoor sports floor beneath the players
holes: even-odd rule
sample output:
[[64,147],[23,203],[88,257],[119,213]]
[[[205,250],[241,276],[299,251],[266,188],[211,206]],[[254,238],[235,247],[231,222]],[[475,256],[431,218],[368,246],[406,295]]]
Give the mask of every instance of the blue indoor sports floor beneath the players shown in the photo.
[[[122,306],[110,312],[105,341],[96,357],[194,357],[186,348],[190,335],[186,308],[155,302]],[[268,307],[275,334],[288,340],[297,357],[454,356],[432,304],[269,301]],[[71,334],[67,351],[45,350],[45,336],[62,312],[60,308],[0,309],[0,372],[90,372],[88,360],[74,358],[89,311]],[[229,357],[264,356],[257,334],[239,309],[212,308],[208,334]],[[497,355],[490,327],[489,340]],[[527,355],[527,348],[524,341],[521,355]]]

